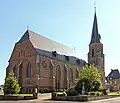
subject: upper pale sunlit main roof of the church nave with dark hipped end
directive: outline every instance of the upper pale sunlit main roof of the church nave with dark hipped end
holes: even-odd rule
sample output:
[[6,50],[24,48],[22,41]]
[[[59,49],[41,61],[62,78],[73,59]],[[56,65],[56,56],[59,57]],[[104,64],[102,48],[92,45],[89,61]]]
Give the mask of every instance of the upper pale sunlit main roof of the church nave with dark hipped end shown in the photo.
[[39,35],[33,31],[27,30],[21,37],[19,42],[30,40],[35,48],[46,51],[57,51],[59,54],[74,55],[74,50],[63,44],[50,40],[42,35]]

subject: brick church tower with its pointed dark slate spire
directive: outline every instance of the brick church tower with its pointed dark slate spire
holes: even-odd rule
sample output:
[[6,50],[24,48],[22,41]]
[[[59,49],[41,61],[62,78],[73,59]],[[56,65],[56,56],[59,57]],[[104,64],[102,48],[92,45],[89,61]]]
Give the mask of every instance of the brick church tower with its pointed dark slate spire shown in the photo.
[[104,66],[104,53],[103,44],[101,43],[101,36],[98,32],[96,11],[94,14],[93,28],[91,41],[89,44],[88,64],[94,64],[101,74],[102,84],[105,84],[105,66]]

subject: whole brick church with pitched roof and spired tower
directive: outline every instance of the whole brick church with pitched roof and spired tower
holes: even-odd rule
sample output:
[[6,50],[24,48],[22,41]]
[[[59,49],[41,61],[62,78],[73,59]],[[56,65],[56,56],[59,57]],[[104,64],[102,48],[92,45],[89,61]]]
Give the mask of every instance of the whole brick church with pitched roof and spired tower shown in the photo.
[[88,62],[74,56],[74,50],[27,30],[15,43],[6,75],[14,72],[23,93],[32,93],[36,87],[54,91],[73,87],[81,69],[94,63],[105,84],[103,44],[98,32],[96,11],[94,14]]

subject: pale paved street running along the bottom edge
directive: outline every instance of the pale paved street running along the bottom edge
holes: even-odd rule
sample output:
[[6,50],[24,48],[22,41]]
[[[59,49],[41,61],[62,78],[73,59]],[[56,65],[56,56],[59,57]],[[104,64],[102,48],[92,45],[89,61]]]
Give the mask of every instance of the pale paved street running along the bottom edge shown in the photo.
[[0,103],[120,103],[120,97],[104,99],[90,102],[73,102],[73,101],[48,101],[48,100],[22,100],[22,101],[0,101]]

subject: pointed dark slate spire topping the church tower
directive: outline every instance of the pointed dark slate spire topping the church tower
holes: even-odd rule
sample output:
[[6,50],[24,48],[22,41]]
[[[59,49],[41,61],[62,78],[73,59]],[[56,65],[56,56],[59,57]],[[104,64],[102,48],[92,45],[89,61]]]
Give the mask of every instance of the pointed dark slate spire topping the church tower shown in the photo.
[[97,16],[96,16],[96,6],[95,8],[95,14],[94,14],[94,21],[93,21],[93,28],[92,28],[92,35],[91,35],[91,41],[90,44],[92,43],[100,43],[100,35],[98,32],[98,24],[97,24]]

